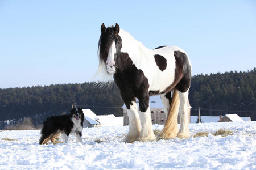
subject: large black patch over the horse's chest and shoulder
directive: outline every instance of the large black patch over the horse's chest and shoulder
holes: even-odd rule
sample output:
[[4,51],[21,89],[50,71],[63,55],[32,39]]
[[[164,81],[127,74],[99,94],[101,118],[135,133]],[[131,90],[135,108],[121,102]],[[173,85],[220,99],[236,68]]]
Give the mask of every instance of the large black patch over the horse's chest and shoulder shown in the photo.
[[137,97],[139,110],[146,112],[149,107],[149,84],[143,71],[137,69],[128,53],[121,53],[115,63],[118,67],[114,73],[114,80],[127,109],[130,109],[131,101],[136,101]]

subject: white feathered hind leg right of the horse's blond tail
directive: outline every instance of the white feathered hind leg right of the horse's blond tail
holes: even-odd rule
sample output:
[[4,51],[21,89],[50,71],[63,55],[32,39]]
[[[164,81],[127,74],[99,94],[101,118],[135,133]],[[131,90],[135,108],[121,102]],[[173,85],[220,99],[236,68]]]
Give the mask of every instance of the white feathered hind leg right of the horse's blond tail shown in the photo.
[[177,134],[179,138],[189,138],[189,128],[188,128],[188,90],[184,93],[179,91],[180,96],[180,130]]

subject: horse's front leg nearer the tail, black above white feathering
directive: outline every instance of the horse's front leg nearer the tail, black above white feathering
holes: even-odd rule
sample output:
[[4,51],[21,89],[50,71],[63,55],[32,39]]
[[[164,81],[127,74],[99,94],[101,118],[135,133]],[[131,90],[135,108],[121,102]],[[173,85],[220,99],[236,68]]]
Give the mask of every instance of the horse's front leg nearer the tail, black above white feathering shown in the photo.
[[139,99],[139,118],[141,119],[141,134],[138,141],[155,140],[155,134],[152,129],[152,119],[149,106],[149,96],[144,99]]

